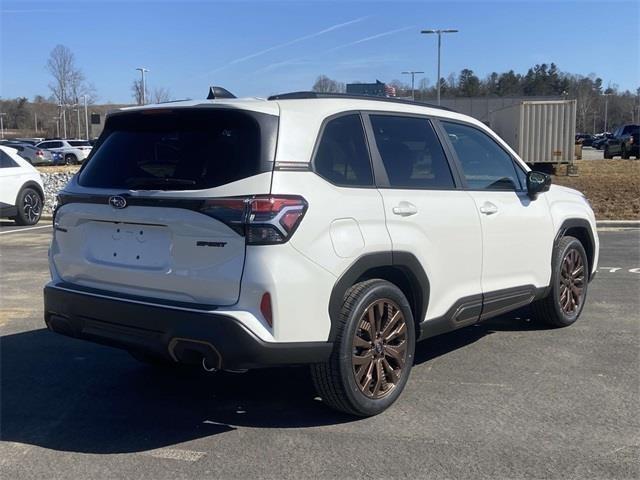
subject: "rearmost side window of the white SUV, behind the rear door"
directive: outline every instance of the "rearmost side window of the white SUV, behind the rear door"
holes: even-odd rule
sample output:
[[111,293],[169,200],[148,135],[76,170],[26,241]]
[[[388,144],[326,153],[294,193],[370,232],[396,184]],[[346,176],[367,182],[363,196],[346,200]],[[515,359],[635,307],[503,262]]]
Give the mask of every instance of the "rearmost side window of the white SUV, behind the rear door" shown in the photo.
[[373,185],[369,151],[359,114],[334,118],[325,125],[314,167],[318,175],[336,185]]

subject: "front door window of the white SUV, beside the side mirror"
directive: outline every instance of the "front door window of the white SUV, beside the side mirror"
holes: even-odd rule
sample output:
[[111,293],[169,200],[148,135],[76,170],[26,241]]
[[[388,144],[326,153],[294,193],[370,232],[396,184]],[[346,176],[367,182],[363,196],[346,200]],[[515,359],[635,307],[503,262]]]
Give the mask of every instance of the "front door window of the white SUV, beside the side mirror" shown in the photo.
[[521,190],[513,159],[489,135],[459,123],[441,122],[473,190]]

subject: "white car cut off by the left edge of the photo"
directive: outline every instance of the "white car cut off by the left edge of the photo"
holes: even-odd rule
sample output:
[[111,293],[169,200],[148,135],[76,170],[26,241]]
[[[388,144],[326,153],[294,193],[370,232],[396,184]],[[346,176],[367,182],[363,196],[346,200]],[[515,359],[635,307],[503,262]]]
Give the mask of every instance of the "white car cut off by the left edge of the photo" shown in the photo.
[[35,225],[43,205],[40,173],[14,148],[0,146],[0,217],[18,225]]

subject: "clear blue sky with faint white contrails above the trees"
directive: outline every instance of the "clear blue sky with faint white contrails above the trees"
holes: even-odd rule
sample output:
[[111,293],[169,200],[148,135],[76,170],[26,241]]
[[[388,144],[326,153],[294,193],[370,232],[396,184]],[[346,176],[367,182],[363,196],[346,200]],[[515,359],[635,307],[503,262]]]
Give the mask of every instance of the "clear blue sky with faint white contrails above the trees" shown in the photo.
[[[640,2],[595,1],[0,1],[0,96],[48,95],[45,70],[68,46],[100,102],[131,102],[135,68],[150,88],[202,98],[208,85],[239,96],[308,90],[319,74],[342,82],[436,77],[472,69],[485,76],[555,62],[622,89],[640,86]],[[627,27],[624,27],[625,22]],[[408,81],[408,78],[404,78]]]

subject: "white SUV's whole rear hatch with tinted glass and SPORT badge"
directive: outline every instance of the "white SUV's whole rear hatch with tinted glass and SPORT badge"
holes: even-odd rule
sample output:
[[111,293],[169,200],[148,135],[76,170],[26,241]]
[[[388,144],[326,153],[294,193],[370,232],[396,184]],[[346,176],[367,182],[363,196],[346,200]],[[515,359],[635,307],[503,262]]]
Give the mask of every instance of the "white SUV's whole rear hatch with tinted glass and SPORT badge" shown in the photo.
[[211,105],[110,116],[59,196],[57,274],[108,292],[236,303],[245,261],[236,198],[269,193],[277,127],[276,115]]

